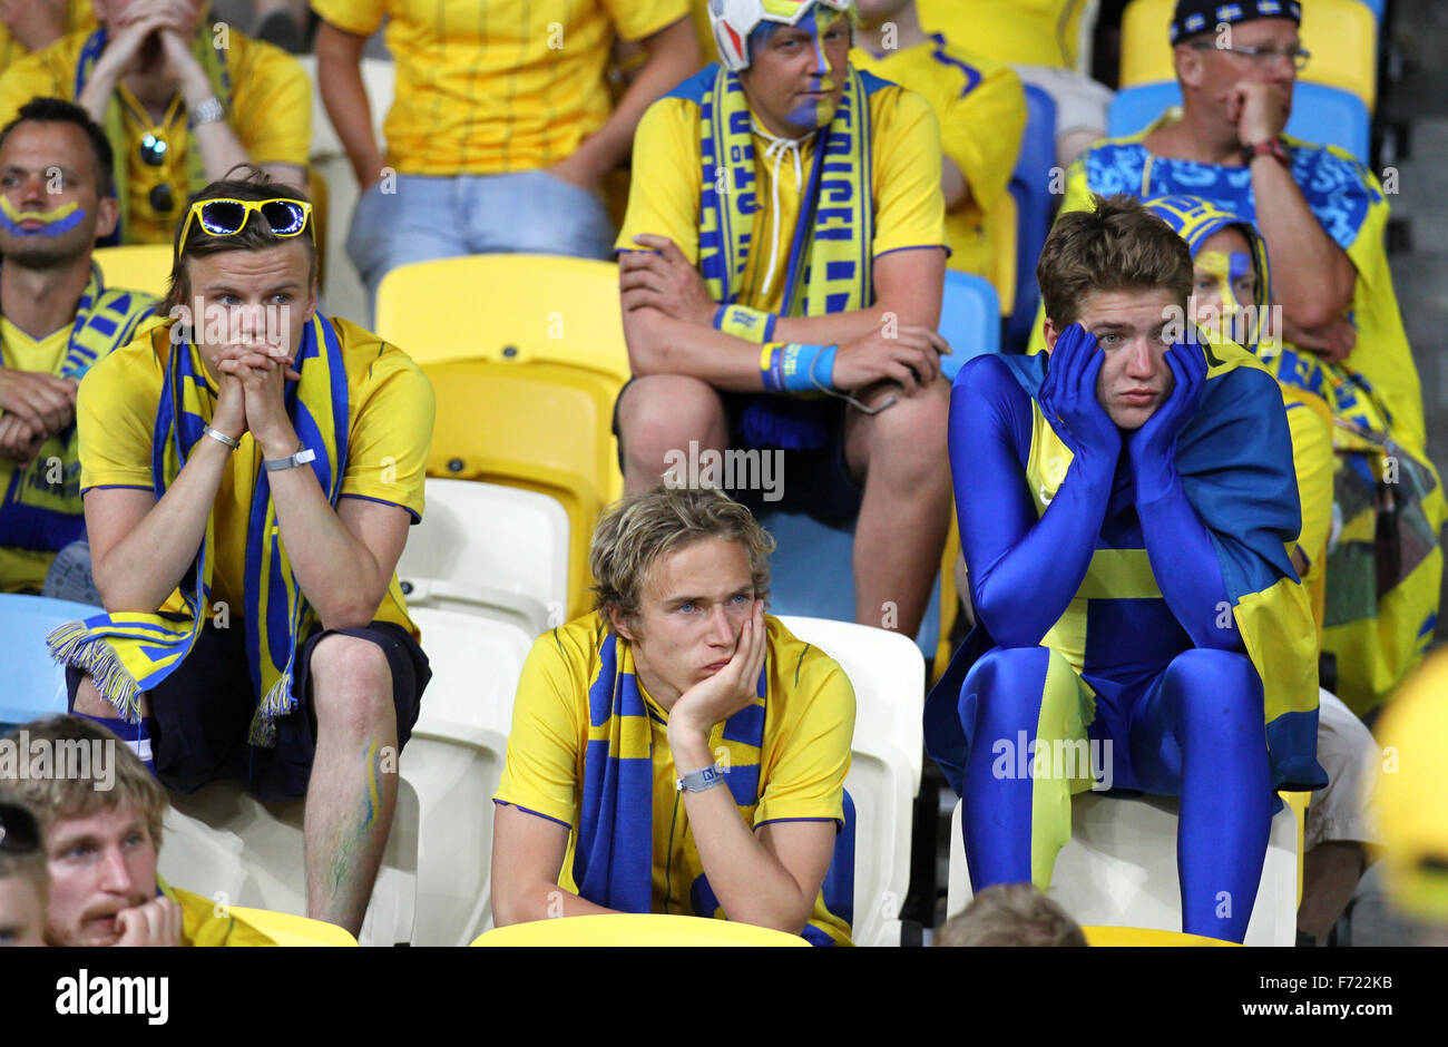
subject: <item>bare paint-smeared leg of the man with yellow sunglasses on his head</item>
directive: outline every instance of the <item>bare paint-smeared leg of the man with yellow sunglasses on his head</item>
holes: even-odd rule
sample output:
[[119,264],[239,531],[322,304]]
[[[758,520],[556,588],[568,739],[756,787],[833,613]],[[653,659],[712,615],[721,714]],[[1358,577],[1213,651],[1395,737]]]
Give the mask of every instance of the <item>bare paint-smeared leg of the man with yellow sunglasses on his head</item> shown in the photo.
[[307,783],[307,915],[362,928],[397,804],[397,712],[381,647],[333,634],[311,655],[317,754]]

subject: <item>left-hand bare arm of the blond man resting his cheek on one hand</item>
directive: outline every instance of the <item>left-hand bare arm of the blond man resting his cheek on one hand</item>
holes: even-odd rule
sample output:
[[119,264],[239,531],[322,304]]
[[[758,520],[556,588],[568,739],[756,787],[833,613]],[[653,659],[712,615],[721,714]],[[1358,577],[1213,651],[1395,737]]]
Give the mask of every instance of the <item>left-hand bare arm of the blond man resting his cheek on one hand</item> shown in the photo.
[[569,830],[511,804],[497,804],[492,823],[492,922],[498,927],[549,917],[589,917],[594,905],[557,885]]

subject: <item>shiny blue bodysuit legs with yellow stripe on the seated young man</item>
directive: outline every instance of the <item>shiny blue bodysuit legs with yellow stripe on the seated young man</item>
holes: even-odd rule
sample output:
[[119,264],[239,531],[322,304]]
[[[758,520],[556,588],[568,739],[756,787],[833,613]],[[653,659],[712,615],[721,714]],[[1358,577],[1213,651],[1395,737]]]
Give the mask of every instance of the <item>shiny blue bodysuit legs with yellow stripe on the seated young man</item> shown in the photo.
[[[1092,704],[1080,676],[1048,647],[995,647],[972,666],[960,692],[970,739],[961,828],[972,886],[1050,886],[1056,854],[1070,840],[1072,794],[1090,788],[1089,769],[1051,757],[1070,756],[1066,743],[1085,740],[1090,724],[1092,739],[1112,741],[1114,785],[1182,798],[1182,930],[1241,941],[1273,812],[1263,691],[1251,662],[1192,647],[1144,686],[1115,695],[1098,686]],[[1047,753],[1030,762],[1031,775],[1018,773],[1028,763],[1016,752],[1022,740]]]

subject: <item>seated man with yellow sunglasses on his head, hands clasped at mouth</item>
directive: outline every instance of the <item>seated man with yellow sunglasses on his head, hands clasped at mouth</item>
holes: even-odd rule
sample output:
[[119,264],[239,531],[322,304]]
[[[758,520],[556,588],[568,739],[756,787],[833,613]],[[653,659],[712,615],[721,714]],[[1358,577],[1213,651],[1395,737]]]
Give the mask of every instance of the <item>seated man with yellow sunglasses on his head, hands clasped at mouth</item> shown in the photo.
[[306,796],[307,911],[362,925],[430,670],[395,565],[433,392],[316,308],[311,204],[216,182],[177,230],[171,321],[81,382],[81,492],[109,614],[51,634],[72,708],[169,788]]

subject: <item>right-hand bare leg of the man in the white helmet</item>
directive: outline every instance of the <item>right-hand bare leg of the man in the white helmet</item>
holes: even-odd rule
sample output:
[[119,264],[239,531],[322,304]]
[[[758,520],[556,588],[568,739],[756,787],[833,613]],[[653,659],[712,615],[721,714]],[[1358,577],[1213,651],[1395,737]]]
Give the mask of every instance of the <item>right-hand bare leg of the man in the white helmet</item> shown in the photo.
[[[846,461],[864,478],[854,527],[854,620],[914,637],[950,531],[946,429],[950,387],[935,382],[869,416],[850,410]],[[893,611],[893,613],[892,613]]]

